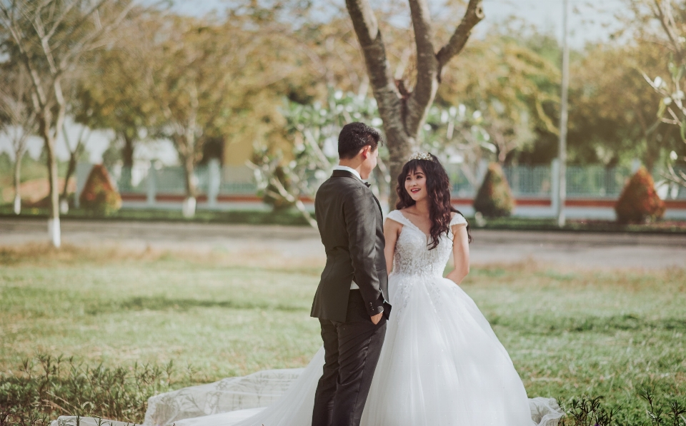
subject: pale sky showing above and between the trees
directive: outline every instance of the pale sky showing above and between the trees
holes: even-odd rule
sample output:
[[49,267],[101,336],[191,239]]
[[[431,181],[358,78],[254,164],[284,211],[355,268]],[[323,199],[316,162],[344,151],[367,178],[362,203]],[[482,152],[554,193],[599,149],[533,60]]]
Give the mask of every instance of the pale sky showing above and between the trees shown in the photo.
[[[337,0],[341,1],[341,0]],[[547,34],[554,34],[557,39],[562,39],[562,1],[563,0],[484,0],[484,14],[487,24],[497,24],[516,16],[524,24],[533,26],[535,29]],[[568,0],[570,2],[569,15],[569,43],[572,49],[581,49],[589,42],[607,41],[610,34],[618,29],[619,21],[617,14],[621,14],[624,0]],[[226,5],[223,0],[176,0],[174,9],[182,14],[202,16],[210,11],[221,12]],[[382,5],[382,1],[372,0],[372,7]],[[457,24],[457,20],[456,20]],[[489,25],[479,24],[474,29],[474,36],[481,36]],[[75,140],[79,134],[78,126],[69,123],[66,131],[71,140]],[[89,137],[86,146],[89,151],[89,160],[99,163],[102,153],[109,146],[111,132],[94,131]],[[42,141],[39,138],[31,138],[29,141],[29,155],[37,158],[41,152]],[[172,164],[177,161],[177,154],[171,143],[160,141],[145,150],[136,153],[137,158],[160,158],[163,163]],[[11,151],[9,140],[0,135],[0,152]],[[69,152],[64,144],[64,139],[57,142],[57,156],[61,160],[69,158]]]

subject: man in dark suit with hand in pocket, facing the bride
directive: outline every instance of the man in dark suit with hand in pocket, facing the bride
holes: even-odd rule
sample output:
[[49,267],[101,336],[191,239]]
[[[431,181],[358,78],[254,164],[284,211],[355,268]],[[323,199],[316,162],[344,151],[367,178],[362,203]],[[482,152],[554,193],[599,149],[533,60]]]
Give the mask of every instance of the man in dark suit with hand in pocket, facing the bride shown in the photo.
[[381,206],[369,185],[381,136],[364,123],[338,136],[339,166],[314,199],[327,265],[312,315],[324,340],[324,374],[312,426],[358,426],[386,335],[388,277]]

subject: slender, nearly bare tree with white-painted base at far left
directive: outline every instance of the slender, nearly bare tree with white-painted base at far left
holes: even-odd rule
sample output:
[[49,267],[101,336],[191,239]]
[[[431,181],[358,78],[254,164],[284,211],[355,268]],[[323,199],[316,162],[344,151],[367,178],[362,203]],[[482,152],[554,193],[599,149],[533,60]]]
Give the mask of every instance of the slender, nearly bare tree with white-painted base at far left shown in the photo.
[[47,153],[48,223],[55,247],[61,245],[55,144],[67,108],[62,86],[132,7],[131,0],[0,0],[0,22],[11,36],[10,55],[31,78],[32,106]]

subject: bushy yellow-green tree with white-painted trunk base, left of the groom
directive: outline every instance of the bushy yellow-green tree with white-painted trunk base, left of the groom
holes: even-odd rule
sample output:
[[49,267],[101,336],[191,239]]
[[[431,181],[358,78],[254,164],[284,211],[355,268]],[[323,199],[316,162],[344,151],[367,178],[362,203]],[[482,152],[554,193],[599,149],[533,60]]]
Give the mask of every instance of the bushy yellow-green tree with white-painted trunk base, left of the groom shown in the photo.
[[[224,138],[240,126],[261,127],[245,121],[246,106],[264,99],[264,88],[296,70],[271,21],[229,11],[225,21],[169,15],[155,26],[141,61],[151,96],[152,134],[168,138],[179,153],[186,175],[184,211],[194,214],[197,188],[194,169],[208,140]],[[281,39],[286,41],[282,42]],[[285,52],[285,53],[283,53]],[[273,99],[273,96],[271,97]]]

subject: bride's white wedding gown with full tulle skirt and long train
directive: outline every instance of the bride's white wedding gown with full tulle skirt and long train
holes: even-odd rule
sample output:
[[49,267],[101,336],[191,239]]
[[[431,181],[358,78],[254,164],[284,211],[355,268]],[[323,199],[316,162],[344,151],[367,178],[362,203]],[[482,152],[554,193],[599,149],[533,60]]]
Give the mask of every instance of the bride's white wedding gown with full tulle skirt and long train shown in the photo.
[[[402,213],[388,218],[403,225],[389,275],[393,310],[361,425],[556,426],[562,417],[557,402],[527,398],[477,305],[442,277],[452,233],[429,250],[427,235]],[[457,214],[451,225],[459,223],[466,221]],[[311,426],[322,365],[323,348],[304,369],[267,370],[151,397],[144,425]]]

